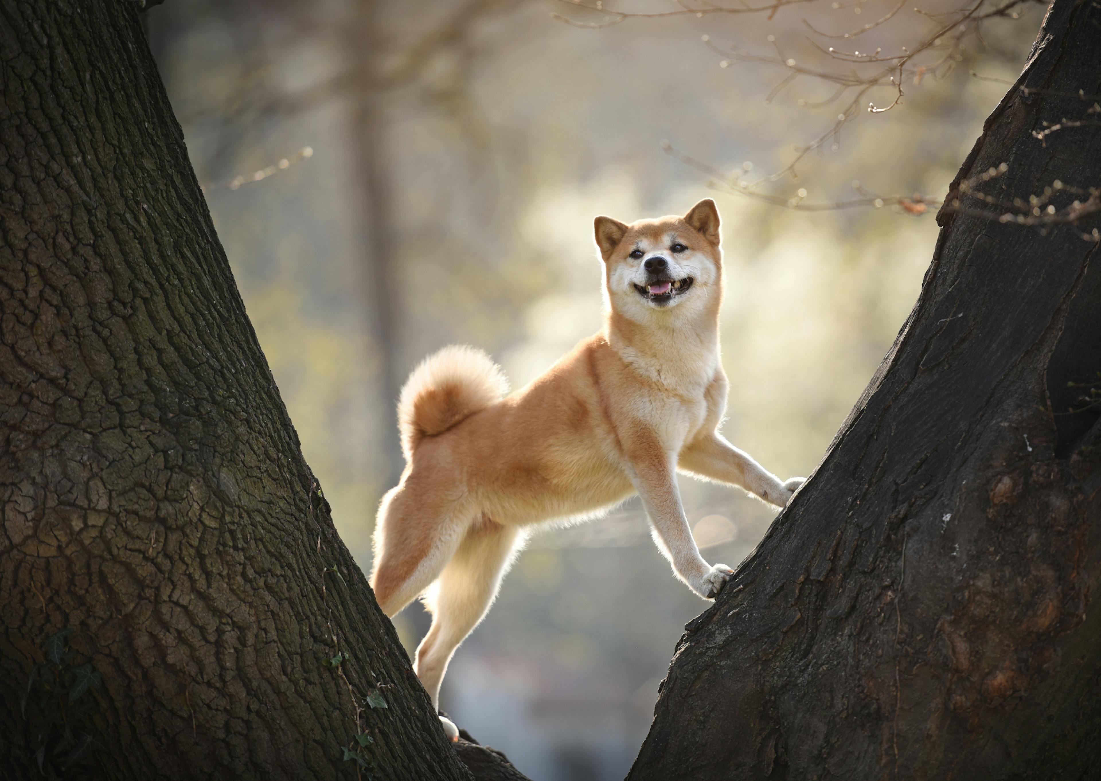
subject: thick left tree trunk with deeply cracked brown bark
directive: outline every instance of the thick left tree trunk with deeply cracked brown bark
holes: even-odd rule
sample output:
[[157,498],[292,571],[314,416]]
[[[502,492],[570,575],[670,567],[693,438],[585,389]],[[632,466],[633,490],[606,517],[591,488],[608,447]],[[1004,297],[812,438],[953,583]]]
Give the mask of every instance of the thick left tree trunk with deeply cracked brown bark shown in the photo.
[[377,778],[469,779],[303,460],[137,3],[0,0],[0,777],[37,775],[19,701],[73,627],[97,778],[356,778],[362,707]]

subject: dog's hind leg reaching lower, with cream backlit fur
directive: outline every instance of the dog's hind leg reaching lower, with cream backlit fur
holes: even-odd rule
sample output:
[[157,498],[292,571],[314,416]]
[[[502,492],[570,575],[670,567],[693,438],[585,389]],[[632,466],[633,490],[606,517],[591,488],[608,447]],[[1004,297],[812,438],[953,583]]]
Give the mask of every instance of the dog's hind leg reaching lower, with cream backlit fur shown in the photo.
[[428,589],[424,601],[432,612],[432,628],[416,650],[416,674],[433,707],[439,707],[439,684],[451,654],[489,610],[522,541],[517,528],[482,517]]

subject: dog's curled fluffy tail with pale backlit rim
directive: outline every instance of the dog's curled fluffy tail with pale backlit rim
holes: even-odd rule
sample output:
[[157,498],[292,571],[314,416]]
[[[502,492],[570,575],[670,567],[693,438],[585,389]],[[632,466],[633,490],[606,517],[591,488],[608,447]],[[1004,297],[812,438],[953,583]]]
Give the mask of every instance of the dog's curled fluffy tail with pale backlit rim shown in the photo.
[[453,345],[428,356],[410,375],[397,402],[405,460],[421,440],[443,434],[508,392],[501,367],[479,349]]

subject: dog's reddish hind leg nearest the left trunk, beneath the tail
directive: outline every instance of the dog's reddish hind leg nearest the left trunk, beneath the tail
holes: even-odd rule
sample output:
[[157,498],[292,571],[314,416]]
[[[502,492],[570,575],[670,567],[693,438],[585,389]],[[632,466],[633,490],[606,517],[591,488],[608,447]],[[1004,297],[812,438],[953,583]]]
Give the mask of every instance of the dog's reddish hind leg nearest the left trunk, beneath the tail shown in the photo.
[[371,588],[393,618],[439,577],[473,519],[430,487],[403,482],[386,492],[374,527]]

